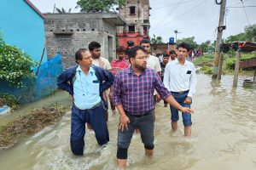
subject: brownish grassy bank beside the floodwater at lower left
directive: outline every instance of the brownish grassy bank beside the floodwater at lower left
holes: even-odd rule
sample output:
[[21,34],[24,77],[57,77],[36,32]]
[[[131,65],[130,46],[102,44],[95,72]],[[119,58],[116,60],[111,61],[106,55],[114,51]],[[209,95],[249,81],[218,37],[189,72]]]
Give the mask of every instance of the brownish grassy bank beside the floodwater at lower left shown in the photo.
[[44,107],[0,127],[0,150],[19,143],[20,140],[38,133],[44,127],[54,125],[61,120],[65,112],[66,108],[60,105]]

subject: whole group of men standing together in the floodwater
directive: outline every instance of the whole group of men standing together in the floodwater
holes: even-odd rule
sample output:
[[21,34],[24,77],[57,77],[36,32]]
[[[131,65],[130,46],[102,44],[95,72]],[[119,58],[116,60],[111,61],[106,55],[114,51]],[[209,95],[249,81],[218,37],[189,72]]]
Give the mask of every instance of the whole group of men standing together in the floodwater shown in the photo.
[[184,134],[190,136],[195,66],[186,60],[188,44],[178,44],[176,52],[174,57],[173,51],[170,53],[170,62],[169,55],[164,55],[160,64],[150,53],[150,41],[142,40],[140,46],[129,50],[128,59],[125,48],[117,48],[118,59],[110,64],[108,59],[101,57],[98,42],[90,42],[89,50],[80,48],[75,54],[78,65],[63,71],[57,82],[59,88],[73,96],[70,137],[73,154],[83,155],[85,123],[95,131],[98,144],[108,143],[108,97],[113,113],[115,108],[119,112],[119,167],[126,166],[128,148],[136,129],[141,134],[146,156],[153,155],[154,109],[161,99],[166,105],[170,104],[172,129],[177,130],[178,111],[181,111]]

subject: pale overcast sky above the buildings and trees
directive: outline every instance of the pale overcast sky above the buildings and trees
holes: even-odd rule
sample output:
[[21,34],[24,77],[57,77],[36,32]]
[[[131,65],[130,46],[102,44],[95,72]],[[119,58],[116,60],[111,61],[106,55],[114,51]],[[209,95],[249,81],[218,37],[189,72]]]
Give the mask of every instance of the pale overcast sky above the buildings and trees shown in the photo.
[[[57,8],[72,8],[72,12],[79,12],[77,0],[30,0],[42,13],[53,12],[54,4]],[[218,0],[219,2],[220,0]],[[169,37],[195,37],[198,43],[211,42],[216,39],[220,5],[215,0],[149,0],[150,36],[163,37],[168,42]],[[244,31],[248,23],[256,24],[256,0],[227,0],[225,16],[226,30],[223,37],[236,35]],[[250,7],[254,6],[254,7]],[[244,10],[245,9],[245,10]],[[246,15],[247,14],[247,15]]]

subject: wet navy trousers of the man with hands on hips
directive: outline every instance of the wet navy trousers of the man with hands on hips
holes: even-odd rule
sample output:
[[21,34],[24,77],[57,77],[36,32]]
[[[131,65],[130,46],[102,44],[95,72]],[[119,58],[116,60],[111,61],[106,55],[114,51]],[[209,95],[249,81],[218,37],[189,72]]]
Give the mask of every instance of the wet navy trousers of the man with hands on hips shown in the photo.
[[88,110],[79,110],[73,105],[71,113],[70,146],[74,155],[83,155],[86,122],[90,123],[96,133],[98,144],[107,144],[109,141],[105,109],[102,102]]

